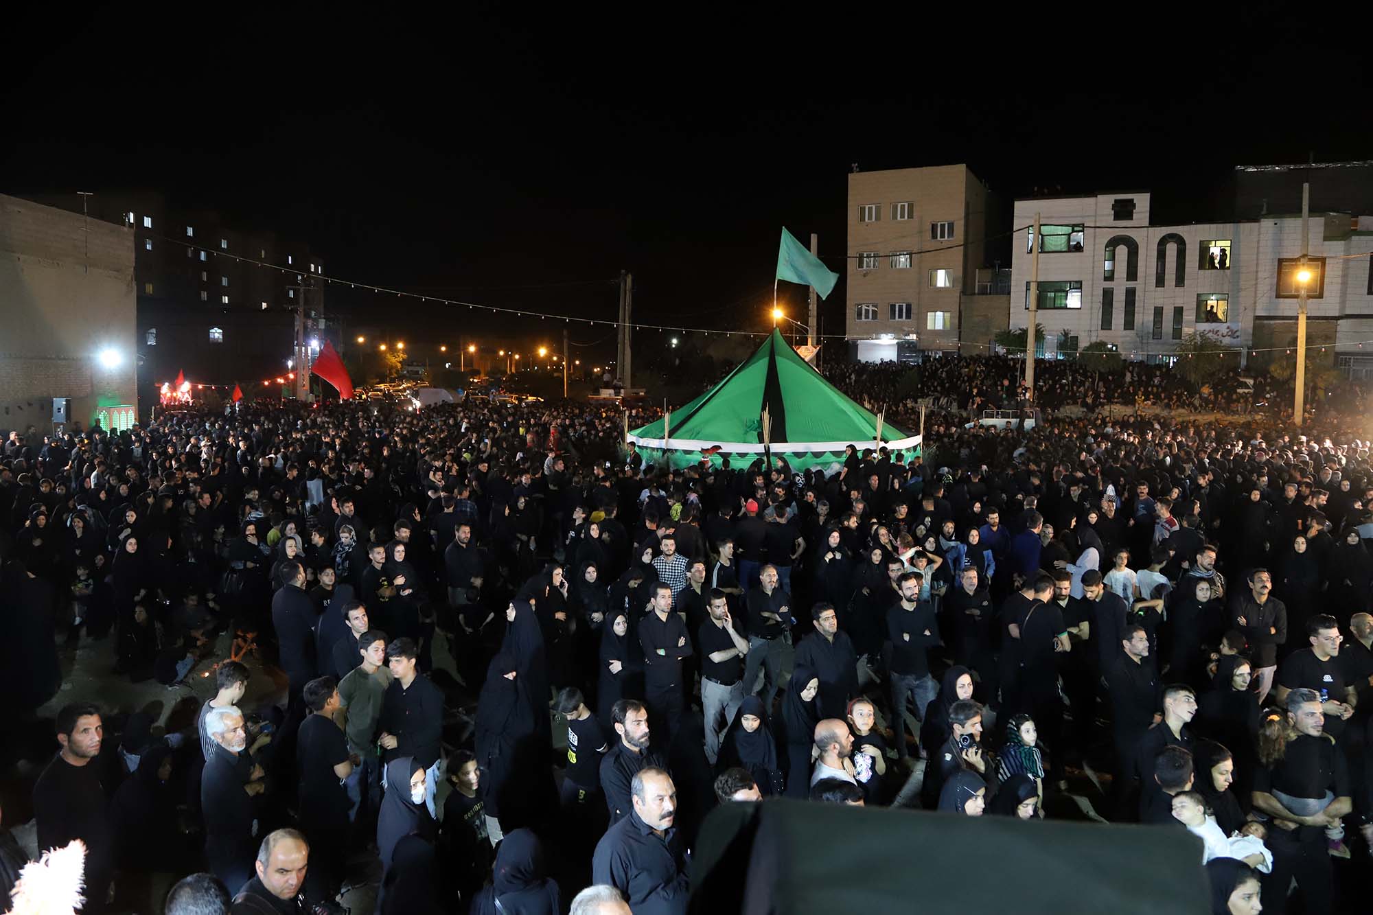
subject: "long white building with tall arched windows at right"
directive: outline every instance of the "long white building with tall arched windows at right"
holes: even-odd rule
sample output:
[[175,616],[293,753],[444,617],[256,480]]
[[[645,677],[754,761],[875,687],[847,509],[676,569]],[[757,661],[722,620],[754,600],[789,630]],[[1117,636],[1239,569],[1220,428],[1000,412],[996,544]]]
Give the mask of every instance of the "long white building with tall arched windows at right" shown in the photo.
[[[1063,331],[1076,337],[1078,348],[1100,339],[1127,359],[1151,361],[1167,359],[1195,330],[1244,346],[1247,357],[1292,345],[1299,213],[1151,225],[1148,192],[1016,201],[1011,327],[1028,320],[1035,213],[1043,354],[1057,352]],[[1310,216],[1308,343],[1333,348],[1351,370],[1363,360],[1373,368],[1370,229],[1370,216]]]

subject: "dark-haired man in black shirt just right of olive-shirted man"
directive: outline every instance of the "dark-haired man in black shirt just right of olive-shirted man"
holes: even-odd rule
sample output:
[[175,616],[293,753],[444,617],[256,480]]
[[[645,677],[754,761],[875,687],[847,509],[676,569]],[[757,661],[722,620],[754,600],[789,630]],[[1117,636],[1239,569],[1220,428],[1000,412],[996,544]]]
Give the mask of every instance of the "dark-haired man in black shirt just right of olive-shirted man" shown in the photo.
[[419,650],[412,639],[395,639],[386,646],[391,686],[382,701],[383,762],[412,757],[428,769],[424,802],[434,816],[434,789],[438,786],[439,739],[443,734],[443,694],[428,677],[419,675]]

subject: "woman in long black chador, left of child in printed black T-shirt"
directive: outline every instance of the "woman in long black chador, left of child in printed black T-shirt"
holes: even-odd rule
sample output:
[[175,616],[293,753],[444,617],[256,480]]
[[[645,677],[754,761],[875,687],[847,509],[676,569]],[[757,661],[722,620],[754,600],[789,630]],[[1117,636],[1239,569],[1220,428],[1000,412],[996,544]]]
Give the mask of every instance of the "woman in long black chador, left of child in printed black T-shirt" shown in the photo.
[[535,741],[534,708],[519,662],[511,654],[498,654],[486,669],[476,701],[475,732],[486,830],[493,841],[500,841],[503,813],[508,820],[518,819],[519,794],[529,795],[533,789],[530,771],[538,764]]

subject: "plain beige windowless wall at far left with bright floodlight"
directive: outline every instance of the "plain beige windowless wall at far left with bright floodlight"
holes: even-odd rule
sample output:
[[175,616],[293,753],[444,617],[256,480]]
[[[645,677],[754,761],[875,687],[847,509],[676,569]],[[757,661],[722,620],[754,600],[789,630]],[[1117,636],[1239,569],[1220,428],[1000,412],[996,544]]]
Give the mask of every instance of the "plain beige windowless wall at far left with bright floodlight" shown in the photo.
[[[0,195],[0,429],[135,404],[133,229]],[[97,353],[119,354],[104,368]]]

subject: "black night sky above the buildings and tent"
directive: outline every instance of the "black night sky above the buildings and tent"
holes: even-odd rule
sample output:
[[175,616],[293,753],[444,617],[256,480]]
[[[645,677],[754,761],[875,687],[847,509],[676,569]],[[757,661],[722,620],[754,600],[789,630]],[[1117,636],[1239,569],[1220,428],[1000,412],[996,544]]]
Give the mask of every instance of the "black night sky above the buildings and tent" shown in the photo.
[[[1373,158],[1366,30],[1337,4],[198,5],[11,18],[0,191],[154,187],[308,238],[332,275],[551,313],[614,320],[623,268],[640,320],[757,328],[781,225],[842,253],[854,162],[968,162],[1008,207],[1149,188],[1188,221],[1236,163]],[[400,332],[508,330],[384,305]]]

